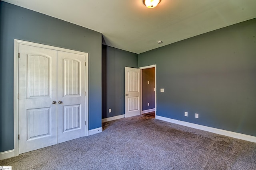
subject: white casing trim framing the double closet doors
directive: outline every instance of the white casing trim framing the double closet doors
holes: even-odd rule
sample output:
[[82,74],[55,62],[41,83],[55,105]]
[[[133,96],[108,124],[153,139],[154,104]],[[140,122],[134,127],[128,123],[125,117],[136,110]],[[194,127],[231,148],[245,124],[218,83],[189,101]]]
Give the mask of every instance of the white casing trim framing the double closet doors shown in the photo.
[[[68,52],[68,53],[76,53],[76,54],[80,54],[80,55],[85,55],[85,61],[86,61],[86,68],[85,68],[85,76],[86,76],[86,80],[85,80],[85,86],[86,86],[86,116],[85,116],[85,121],[86,123],[86,132],[85,132],[85,136],[88,136],[88,53],[86,52],[81,52],[81,51],[74,51],[74,50],[70,50],[70,49],[64,49],[64,48],[60,48],[60,47],[54,47],[54,46],[50,46],[50,45],[44,45],[44,44],[39,44],[39,43],[33,43],[33,42],[29,42],[29,41],[23,41],[23,40],[18,40],[18,39],[14,39],[14,156],[18,156],[19,155],[19,140],[18,140],[18,133],[19,133],[19,125],[18,125],[18,110],[19,110],[19,100],[18,100],[18,88],[19,88],[19,45],[23,44],[23,45],[31,45],[31,46],[36,46],[36,47],[41,47],[41,48],[46,48],[46,49],[52,49],[52,50],[56,50],[56,51],[64,51],[64,52]],[[83,93],[82,93],[83,94]]]

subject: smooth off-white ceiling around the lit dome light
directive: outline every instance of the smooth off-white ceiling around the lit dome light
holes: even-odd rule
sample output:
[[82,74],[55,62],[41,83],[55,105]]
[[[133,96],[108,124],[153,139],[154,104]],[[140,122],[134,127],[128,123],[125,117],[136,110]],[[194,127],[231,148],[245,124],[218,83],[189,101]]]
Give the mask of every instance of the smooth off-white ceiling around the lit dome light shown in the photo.
[[[143,53],[256,18],[256,0],[3,0],[102,33],[106,45]],[[157,41],[162,40],[162,44]]]

